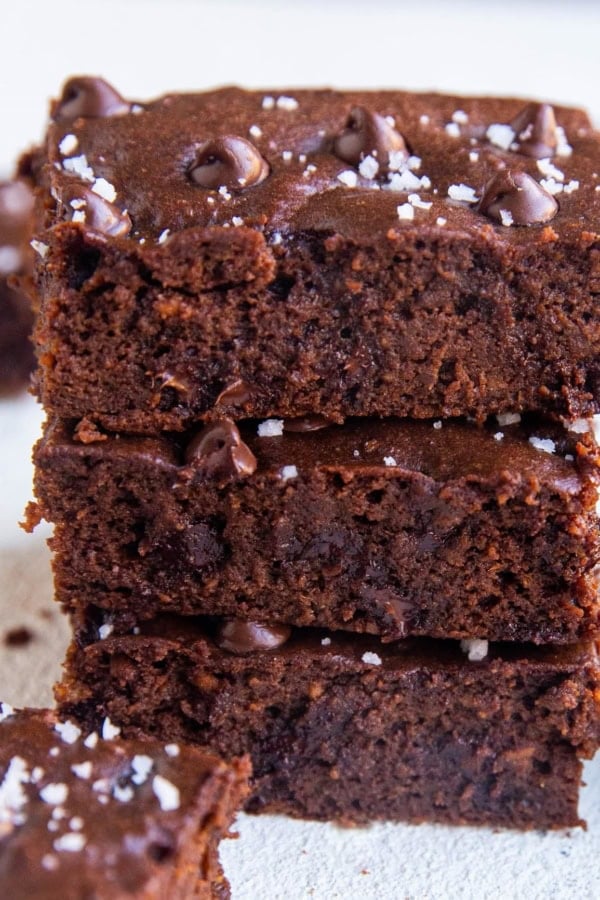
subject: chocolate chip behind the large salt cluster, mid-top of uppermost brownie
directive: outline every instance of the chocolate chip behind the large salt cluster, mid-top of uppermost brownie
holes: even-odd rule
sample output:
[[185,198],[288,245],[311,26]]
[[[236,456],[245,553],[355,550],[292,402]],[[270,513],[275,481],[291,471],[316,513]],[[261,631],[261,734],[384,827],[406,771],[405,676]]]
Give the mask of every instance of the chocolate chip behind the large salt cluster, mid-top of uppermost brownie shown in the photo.
[[402,135],[377,113],[364,106],[355,106],[350,112],[343,131],[333,145],[336,156],[357,166],[365,156],[373,156],[379,163],[379,173],[385,174],[390,164],[390,154],[400,154],[408,159],[408,149]]

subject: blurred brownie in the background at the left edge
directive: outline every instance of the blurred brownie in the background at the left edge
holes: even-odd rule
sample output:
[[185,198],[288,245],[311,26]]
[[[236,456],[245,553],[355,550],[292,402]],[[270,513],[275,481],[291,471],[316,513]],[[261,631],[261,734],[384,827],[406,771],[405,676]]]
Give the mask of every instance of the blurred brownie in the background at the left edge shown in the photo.
[[23,388],[34,366],[33,310],[17,281],[31,274],[32,214],[25,182],[0,182],[0,395]]

